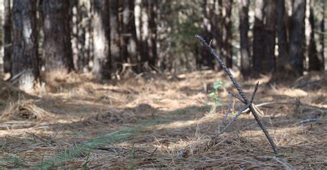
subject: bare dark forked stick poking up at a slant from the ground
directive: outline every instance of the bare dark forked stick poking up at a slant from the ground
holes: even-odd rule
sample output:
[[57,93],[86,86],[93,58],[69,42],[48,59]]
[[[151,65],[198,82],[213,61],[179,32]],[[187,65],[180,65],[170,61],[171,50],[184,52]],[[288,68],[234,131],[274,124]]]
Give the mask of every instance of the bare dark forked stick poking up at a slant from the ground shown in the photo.
[[[223,63],[223,61],[221,61],[220,57],[216,54],[215,50],[212,49],[212,47],[210,47],[210,45],[208,45],[208,43],[206,43],[206,41],[199,35],[195,35],[195,37],[197,39],[199,39],[199,41],[201,41],[201,43],[204,45],[204,47],[206,47],[206,49],[210,52],[210,54],[212,54],[212,56],[215,57],[215,59],[218,61],[218,63],[221,65],[221,67],[224,69],[224,71],[226,72],[226,74],[228,74],[230,81],[232,81],[232,84],[235,86],[235,88],[237,89],[237,91],[239,92],[239,96],[241,96],[241,98],[244,100],[244,103],[248,106],[248,108],[250,109],[250,111],[252,112],[252,115],[255,117],[255,120],[257,121],[259,127],[261,127],[262,131],[264,131],[264,134],[266,136],[266,138],[268,139],[268,141],[270,142],[271,147],[273,148],[274,152],[276,154],[279,153],[279,151],[277,150],[277,146],[275,145],[275,142],[273,141],[273,138],[270,137],[266,127],[264,127],[264,125],[261,123],[261,120],[257,114],[257,112],[255,111],[255,109],[252,107],[252,98],[254,98],[255,96],[255,92],[257,91],[257,86],[258,83],[255,87],[255,92],[252,95],[251,100],[249,101],[248,98],[246,98],[243,90],[241,89],[241,87],[239,87],[239,84],[236,82],[234,76],[232,76],[232,74],[230,73],[230,70],[228,70],[228,68],[226,67],[226,65]],[[241,111],[242,112],[242,111]]]

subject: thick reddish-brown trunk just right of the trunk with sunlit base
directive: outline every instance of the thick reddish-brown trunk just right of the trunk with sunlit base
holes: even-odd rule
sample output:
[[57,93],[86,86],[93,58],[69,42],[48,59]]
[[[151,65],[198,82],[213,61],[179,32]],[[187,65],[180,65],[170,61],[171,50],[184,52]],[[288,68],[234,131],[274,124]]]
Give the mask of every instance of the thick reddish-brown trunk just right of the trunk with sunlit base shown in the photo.
[[70,8],[65,0],[43,0],[43,54],[46,72],[70,72],[74,68],[70,42]]

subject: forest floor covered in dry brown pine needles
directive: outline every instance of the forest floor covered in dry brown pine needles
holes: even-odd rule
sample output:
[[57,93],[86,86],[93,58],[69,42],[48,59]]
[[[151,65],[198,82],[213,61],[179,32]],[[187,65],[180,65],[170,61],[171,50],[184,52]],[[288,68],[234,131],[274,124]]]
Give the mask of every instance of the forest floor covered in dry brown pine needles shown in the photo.
[[[256,105],[273,102],[258,108],[281,154],[252,114],[212,139],[224,128],[228,92],[237,93],[224,72],[108,82],[72,73],[28,94],[0,81],[0,167],[326,169],[326,72],[277,83],[269,76],[237,79],[247,96],[259,81]],[[209,93],[217,81],[224,81],[221,106],[212,114]],[[242,106],[234,100],[228,120]]]

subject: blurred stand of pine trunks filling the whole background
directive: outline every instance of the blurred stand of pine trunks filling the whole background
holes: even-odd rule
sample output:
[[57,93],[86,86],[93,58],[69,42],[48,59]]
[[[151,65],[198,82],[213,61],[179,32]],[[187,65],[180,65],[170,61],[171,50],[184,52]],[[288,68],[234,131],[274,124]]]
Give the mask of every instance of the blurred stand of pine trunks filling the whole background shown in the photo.
[[[39,0],[24,1],[26,9],[19,0],[0,3],[1,71],[19,87],[39,72],[110,79],[220,70],[194,34],[244,77],[301,76],[325,67],[322,0]],[[28,70],[33,78],[23,81]]]

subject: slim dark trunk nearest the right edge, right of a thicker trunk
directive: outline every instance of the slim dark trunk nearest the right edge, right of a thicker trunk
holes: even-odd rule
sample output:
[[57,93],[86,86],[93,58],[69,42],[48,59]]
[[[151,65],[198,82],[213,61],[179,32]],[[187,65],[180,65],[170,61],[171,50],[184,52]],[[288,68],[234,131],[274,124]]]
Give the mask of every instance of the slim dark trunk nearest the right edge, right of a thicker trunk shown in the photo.
[[310,15],[309,15],[309,23],[310,23],[310,28],[311,28],[311,32],[310,32],[310,41],[309,41],[309,47],[308,47],[308,56],[309,56],[309,71],[312,70],[321,70],[322,65],[323,65],[323,61],[322,59],[319,59],[319,55],[318,55],[318,51],[317,51],[317,45],[316,45],[316,41],[315,41],[315,14],[313,13],[313,8],[314,8],[314,1],[310,0]]

